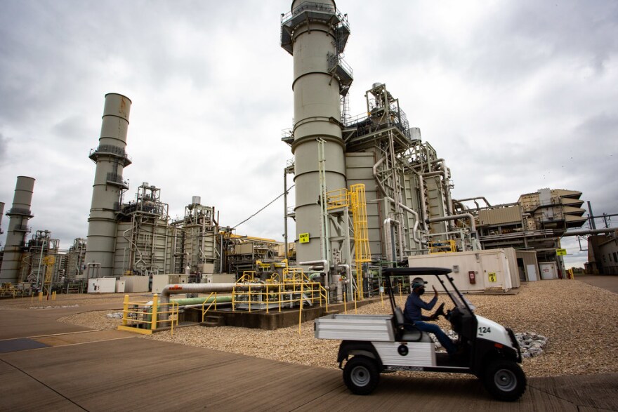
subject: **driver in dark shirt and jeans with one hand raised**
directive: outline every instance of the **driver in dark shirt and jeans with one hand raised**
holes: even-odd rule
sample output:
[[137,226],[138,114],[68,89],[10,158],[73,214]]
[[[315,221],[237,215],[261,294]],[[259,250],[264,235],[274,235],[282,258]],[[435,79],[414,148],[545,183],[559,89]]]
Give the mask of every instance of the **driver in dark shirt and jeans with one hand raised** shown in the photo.
[[431,317],[421,314],[421,310],[432,310],[435,303],[438,302],[438,291],[435,290],[435,286],[433,286],[434,295],[432,300],[426,303],[421,299],[421,295],[425,293],[426,284],[427,282],[424,281],[422,277],[415,277],[412,280],[412,293],[410,293],[406,300],[403,316],[407,322],[414,324],[419,331],[433,333],[442,346],[445,347],[448,354],[454,356],[457,347],[453,341],[450,340],[446,333],[442,332],[440,326],[425,322],[438,319],[438,314],[433,314]]

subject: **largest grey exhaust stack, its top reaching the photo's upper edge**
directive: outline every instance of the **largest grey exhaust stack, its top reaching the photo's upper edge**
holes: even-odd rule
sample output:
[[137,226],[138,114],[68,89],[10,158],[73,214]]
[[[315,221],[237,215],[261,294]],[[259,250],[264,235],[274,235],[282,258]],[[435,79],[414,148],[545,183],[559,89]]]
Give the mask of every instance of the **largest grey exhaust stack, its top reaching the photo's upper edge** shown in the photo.
[[[333,0],[294,0],[282,16],[281,46],[294,56],[294,183],[298,262],[329,260],[320,244],[320,157],[324,141],[324,181],[327,190],[346,187],[345,144],[341,137],[341,95],[352,76],[341,60],[349,35],[346,16]],[[298,241],[298,240],[297,240]]]

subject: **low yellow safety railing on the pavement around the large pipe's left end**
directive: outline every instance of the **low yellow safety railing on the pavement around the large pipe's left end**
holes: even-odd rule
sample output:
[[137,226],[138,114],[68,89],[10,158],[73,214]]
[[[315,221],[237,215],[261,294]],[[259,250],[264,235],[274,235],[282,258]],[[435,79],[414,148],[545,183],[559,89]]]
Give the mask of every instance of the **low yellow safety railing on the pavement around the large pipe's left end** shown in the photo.
[[[161,315],[166,319],[161,319]],[[155,293],[150,302],[129,302],[129,295],[124,295],[122,305],[122,324],[119,331],[129,331],[150,335],[157,328],[169,324],[173,335],[174,325],[178,326],[178,303],[159,303],[159,296]]]

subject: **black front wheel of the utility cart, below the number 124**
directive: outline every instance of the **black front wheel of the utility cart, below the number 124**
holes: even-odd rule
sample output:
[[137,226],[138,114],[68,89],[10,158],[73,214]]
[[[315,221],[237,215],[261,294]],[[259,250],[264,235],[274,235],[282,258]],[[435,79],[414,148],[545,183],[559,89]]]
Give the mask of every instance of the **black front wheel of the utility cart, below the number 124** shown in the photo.
[[516,401],[526,390],[526,376],[513,361],[493,361],[485,369],[483,385],[501,401]]

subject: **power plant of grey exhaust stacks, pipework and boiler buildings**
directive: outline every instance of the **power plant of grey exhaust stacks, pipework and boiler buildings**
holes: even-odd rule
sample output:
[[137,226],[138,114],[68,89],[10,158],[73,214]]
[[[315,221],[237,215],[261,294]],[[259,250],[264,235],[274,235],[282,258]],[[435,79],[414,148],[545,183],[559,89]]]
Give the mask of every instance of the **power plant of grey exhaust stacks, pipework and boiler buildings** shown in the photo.
[[[98,146],[88,154],[95,168],[86,237],[66,251],[46,230],[29,239],[35,180],[18,176],[0,282],[22,293],[98,293],[90,279],[114,279],[112,292],[115,282],[121,291],[155,291],[156,279],[163,285],[305,279],[320,288],[311,293],[341,302],[379,293],[386,267],[450,267],[462,291],[508,291],[520,281],[567,276],[560,239],[589,220],[581,192],[541,188],[497,205],[485,197],[453,199],[449,161],[409,124],[397,85],[365,85],[366,111],[349,113],[353,70],[343,51],[350,26],[333,0],[293,1],[280,34],[294,61],[294,123],[282,138],[294,161],[282,168],[284,187],[293,175],[296,189],[294,199],[284,192],[284,241],[236,233],[223,223],[225,211],[194,194],[183,217],[171,219],[164,187],[129,187],[123,171],[132,163],[126,150],[132,103],[109,93]],[[608,253],[615,268],[615,231],[578,233],[603,233],[599,247],[614,245]]]

